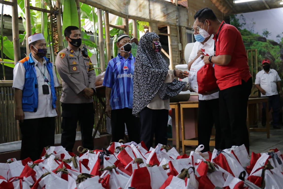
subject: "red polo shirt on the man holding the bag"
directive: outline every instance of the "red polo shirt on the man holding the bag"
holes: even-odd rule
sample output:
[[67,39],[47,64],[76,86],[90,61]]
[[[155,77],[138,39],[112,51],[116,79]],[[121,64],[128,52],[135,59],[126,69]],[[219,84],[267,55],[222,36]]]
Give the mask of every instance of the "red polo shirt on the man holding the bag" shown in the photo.
[[[224,21],[222,21],[224,23]],[[220,27],[222,25],[220,24]],[[246,82],[250,77],[248,59],[241,33],[230,24],[224,24],[217,33],[218,39],[215,42],[215,55],[230,55],[231,61],[228,65],[214,65],[216,83],[220,90],[227,89],[242,84],[242,79]],[[214,35],[213,39],[216,39]]]

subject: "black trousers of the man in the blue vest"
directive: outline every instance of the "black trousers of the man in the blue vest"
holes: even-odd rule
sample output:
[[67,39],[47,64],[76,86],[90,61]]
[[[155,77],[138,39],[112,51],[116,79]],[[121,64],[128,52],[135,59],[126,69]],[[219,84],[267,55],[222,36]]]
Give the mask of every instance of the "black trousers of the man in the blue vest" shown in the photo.
[[22,146],[20,159],[40,159],[44,147],[54,146],[55,117],[25,119],[20,122]]

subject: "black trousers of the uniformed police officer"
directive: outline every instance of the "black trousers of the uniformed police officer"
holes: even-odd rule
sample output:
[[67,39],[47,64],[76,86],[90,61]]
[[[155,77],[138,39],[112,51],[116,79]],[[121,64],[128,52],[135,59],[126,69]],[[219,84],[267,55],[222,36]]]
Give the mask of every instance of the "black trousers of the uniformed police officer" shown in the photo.
[[79,121],[82,145],[84,148],[93,150],[92,131],[94,125],[93,103],[67,104],[62,106],[62,135],[61,145],[67,151],[72,152],[76,141],[76,128]]

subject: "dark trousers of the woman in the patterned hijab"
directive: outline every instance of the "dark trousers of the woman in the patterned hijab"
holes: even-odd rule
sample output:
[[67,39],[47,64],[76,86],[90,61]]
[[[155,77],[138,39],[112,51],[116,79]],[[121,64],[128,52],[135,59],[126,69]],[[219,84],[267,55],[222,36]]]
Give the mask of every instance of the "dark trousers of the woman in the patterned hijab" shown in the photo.
[[167,124],[168,110],[153,110],[145,107],[140,112],[141,141],[149,150],[153,145],[153,135],[155,135],[155,146],[158,143],[167,145]]

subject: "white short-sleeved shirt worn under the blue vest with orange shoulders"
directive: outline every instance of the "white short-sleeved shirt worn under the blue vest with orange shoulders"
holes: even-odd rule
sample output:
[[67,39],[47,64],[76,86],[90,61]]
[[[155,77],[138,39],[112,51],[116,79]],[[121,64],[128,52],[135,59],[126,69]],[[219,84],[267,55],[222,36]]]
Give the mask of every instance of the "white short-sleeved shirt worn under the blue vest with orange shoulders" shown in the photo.
[[[41,71],[44,73],[44,67],[46,67],[46,60],[43,59],[43,63],[39,63],[35,58],[33,58],[35,62],[35,70],[37,75],[37,84],[38,84],[38,108],[36,112],[24,112],[24,119],[35,119],[35,118],[44,118],[44,117],[55,117],[57,116],[56,110],[52,108],[52,95],[51,95],[51,88],[49,87],[49,94],[43,94],[42,92],[42,85],[47,84],[44,81],[44,77]],[[36,66],[38,65],[38,67]],[[53,80],[54,80],[54,87],[58,87],[60,85],[54,66],[52,67],[53,72]],[[25,85],[25,68],[22,63],[17,63],[14,67],[13,71],[13,86],[12,88],[18,88],[23,90]],[[50,81],[50,75],[48,74],[47,68],[45,71],[46,78]]]

